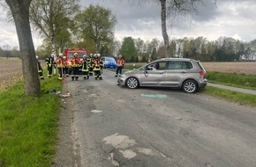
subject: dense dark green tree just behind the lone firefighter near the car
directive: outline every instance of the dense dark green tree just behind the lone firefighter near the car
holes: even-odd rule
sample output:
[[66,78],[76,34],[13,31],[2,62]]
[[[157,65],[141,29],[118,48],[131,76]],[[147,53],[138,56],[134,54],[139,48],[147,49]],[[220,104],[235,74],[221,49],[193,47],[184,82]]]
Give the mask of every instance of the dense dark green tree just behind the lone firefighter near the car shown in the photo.
[[123,45],[119,49],[119,54],[124,56],[125,62],[135,62],[138,56],[138,50],[134,45],[132,37],[125,37]]

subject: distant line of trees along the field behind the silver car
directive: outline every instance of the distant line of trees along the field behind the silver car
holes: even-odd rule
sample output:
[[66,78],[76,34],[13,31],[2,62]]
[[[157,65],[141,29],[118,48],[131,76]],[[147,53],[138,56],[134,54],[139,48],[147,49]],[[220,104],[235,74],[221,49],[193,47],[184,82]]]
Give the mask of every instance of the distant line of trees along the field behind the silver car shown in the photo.
[[[147,62],[165,57],[165,46],[160,40],[144,41],[126,37],[119,52],[127,62]],[[255,61],[256,40],[245,42],[230,37],[207,40],[205,37],[169,40],[170,57],[182,57],[202,62]]]

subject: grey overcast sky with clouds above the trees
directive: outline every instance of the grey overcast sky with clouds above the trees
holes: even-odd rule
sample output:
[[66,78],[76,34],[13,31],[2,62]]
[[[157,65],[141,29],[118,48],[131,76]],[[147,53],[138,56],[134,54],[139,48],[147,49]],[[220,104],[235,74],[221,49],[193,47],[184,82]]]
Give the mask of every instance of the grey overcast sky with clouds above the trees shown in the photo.
[[[221,36],[247,42],[256,39],[255,0],[216,0],[216,4],[214,2],[204,0],[204,5],[198,7],[197,15],[192,18],[180,18],[179,21],[169,24],[169,39],[199,36],[206,37],[207,40],[216,40]],[[139,3],[139,0],[81,0],[81,4],[84,7],[100,4],[109,8],[117,17],[117,40],[128,36],[142,40],[162,40],[159,3],[153,3],[152,0],[147,3]],[[0,47],[19,46],[16,29],[6,21],[4,14],[0,16],[0,24]],[[37,47],[41,44],[41,38],[35,33],[33,35],[34,46]]]

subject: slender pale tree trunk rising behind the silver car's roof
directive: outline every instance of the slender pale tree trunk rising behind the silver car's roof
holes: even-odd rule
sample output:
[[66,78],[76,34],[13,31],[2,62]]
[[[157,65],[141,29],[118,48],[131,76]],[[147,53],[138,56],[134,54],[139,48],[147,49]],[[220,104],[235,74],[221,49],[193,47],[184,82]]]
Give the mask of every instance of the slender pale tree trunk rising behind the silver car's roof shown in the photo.
[[162,38],[166,49],[165,57],[170,57],[169,36],[166,29],[166,0],[159,0],[161,3]]

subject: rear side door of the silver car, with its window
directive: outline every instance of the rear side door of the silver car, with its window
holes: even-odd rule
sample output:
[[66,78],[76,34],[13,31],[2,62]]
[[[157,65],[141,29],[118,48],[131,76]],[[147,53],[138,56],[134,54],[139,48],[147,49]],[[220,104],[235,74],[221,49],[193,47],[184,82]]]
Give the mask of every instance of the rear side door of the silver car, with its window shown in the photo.
[[169,87],[181,86],[192,67],[191,62],[169,61],[167,63],[164,85]]

